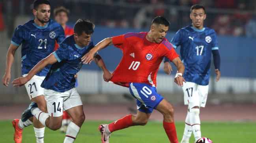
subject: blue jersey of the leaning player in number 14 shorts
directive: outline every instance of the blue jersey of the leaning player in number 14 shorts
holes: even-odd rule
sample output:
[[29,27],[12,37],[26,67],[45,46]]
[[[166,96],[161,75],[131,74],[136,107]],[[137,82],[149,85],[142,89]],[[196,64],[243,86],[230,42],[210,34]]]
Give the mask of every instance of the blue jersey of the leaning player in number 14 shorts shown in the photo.
[[[75,43],[74,34],[67,37],[53,52],[58,62],[52,64],[41,87],[57,92],[65,92],[75,87],[74,76],[83,65],[81,58],[93,47],[92,39],[88,46],[79,47]],[[94,56],[97,54],[98,52]]]

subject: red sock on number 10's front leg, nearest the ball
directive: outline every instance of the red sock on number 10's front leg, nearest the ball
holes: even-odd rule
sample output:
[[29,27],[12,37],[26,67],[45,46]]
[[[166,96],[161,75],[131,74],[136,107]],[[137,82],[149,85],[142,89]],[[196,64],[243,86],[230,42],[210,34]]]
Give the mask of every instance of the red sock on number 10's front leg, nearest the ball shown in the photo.
[[164,126],[164,130],[165,130],[170,142],[171,143],[179,143],[174,122],[168,123],[168,122],[163,121],[163,126]]

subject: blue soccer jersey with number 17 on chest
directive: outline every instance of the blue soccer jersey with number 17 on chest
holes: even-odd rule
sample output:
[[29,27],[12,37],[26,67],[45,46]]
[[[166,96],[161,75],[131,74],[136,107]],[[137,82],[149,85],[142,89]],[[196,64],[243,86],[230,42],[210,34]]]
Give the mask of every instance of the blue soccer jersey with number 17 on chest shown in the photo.
[[198,30],[189,25],[179,29],[170,43],[174,48],[181,46],[180,57],[185,65],[183,78],[198,85],[208,85],[211,53],[219,49],[215,31],[207,27]]

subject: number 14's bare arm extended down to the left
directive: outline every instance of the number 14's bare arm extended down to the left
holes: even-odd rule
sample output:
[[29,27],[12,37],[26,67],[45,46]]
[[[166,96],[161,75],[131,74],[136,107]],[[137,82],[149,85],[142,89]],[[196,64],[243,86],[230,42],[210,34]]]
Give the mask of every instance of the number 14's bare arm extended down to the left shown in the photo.
[[33,69],[31,69],[30,72],[28,72],[28,75],[25,77],[21,77],[21,78],[17,78],[15,80],[13,80],[13,82],[11,84],[14,84],[14,87],[21,87],[22,85],[26,84],[29,80],[31,80],[31,78],[37,74],[37,72],[42,71],[42,69],[47,66],[47,65],[52,65],[53,63],[58,62],[58,60],[56,59],[56,57],[54,56],[54,54],[50,54],[49,56],[47,56],[46,58],[44,58],[43,60],[41,60],[39,63],[36,64],[35,67],[33,67]]

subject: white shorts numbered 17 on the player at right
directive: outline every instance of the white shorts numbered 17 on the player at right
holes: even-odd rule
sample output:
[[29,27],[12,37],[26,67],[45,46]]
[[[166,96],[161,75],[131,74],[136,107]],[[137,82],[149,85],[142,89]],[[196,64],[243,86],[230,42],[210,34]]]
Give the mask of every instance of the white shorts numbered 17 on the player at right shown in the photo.
[[189,109],[195,106],[205,107],[209,86],[198,85],[193,82],[183,82],[184,104],[189,105]]

